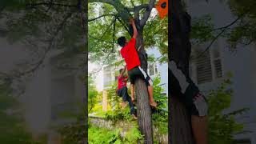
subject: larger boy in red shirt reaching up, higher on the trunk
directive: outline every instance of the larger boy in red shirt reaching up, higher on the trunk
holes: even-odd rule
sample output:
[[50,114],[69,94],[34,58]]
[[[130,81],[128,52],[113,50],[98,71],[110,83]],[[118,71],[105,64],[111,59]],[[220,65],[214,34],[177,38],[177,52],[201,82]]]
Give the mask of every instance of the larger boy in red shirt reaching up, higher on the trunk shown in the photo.
[[133,37],[130,39],[130,42],[126,41],[125,37],[118,38],[118,44],[120,46],[122,46],[121,54],[122,54],[122,58],[125,59],[127,70],[128,70],[128,75],[130,78],[131,98],[132,98],[132,101],[134,102],[135,79],[142,78],[145,80],[147,88],[148,88],[148,93],[150,96],[150,106],[156,107],[157,103],[154,102],[154,98],[153,98],[153,81],[149,77],[149,75],[146,74],[146,72],[144,70],[142,70],[141,62],[138,58],[138,53],[135,48],[138,31],[135,26],[133,18],[130,20],[130,24],[133,26],[133,30],[134,30]]

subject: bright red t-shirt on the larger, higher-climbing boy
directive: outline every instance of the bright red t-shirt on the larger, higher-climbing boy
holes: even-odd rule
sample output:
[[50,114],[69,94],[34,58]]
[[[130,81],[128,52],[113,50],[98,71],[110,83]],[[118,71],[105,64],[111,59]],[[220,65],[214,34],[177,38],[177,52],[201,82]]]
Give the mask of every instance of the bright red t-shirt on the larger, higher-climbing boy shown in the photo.
[[130,42],[121,49],[121,55],[126,61],[127,70],[131,70],[136,66],[141,66],[135,44],[135,38],[131,38]]

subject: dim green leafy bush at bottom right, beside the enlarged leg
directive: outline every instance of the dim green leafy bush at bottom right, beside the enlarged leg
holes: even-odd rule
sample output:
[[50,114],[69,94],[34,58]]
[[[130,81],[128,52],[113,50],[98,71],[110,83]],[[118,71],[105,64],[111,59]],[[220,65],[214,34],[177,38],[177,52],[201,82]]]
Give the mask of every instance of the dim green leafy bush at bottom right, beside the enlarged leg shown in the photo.
[[209,102],[209,143],[231,144],[233,135],[242,131],[243,125],[235,122],[234,116],[248,110],[235,110],[230,114],[223,114],[223,110],[230,108],[232,90],[227,90],[231,84],[229,79],[224,80],[217,90],[211,90],[207,97]]

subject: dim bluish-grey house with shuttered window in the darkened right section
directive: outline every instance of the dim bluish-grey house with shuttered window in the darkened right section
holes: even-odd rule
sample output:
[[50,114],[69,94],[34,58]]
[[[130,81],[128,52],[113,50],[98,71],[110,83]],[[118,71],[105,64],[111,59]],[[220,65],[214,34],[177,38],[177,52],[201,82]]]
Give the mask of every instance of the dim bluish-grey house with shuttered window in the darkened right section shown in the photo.
[[[186,1],[189,14],[192,18],[211,14],[214,26],[222,27],[233,22],[235,17],[230,13],[230,8],[225,2],[205,0]],[[190,62],[190,75],[203,92],[212,90],[225,78],[227,72],[233,74],[231,89],[234,91],[229,112],[248,107],[250,110],[237,119],[245,126],[242,134],[234,138],[238,144],[256,144],[256,48],[239,46],[236,52],[231,52],[227,43],[220,38],[210,50],[196,58],[209,43],[193,46],[194,59]]]

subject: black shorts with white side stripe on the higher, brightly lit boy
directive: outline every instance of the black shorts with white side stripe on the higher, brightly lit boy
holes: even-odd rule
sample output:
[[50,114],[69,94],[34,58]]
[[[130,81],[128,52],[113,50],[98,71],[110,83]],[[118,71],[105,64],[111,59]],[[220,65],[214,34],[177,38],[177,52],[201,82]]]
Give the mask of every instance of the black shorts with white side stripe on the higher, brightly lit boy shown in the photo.
[[146,86],[153,86],[153,81],[149,74],[146,74],[146,72],[140,66],[136,66],[133,69],[128,70],[128,75],[130,84],[134,84],[136,78],[142,78],[145,80]]

